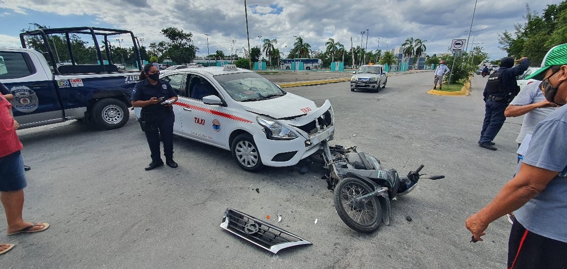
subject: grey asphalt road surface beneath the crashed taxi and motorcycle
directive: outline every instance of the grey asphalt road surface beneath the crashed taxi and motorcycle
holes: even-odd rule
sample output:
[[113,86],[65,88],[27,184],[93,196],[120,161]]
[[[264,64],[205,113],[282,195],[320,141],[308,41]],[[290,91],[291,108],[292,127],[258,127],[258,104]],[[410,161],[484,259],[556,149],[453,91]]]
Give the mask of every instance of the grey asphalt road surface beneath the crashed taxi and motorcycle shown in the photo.
[[[521,118],[506,121],[494,140],[496,152],[477,146],[485,81],[474,77],[470,96],[426,94],[432,72],[393,75],[380,93],[353,93],[348,82],[286,89],[318,104],[331,100],[331,144],[357,145],[400,174],[423,163],[422,173],[446,175],[422,180],[392,201],[390,226],[373,234],[354,232],[340,220],[317,166],[306,174],[299,166],[248,173],[228,151],[175,138],[180,167],[144,171],[149,149],[133,114],[112,131],[79,121],[18,131],[24,163],[32,167],[24,218],[52,226],[6,236],[0,214],[0,242],[16,243],[0,256],[0,267],[505,267],[505,218],[489,226],[483,242],[469,243],[464,228],[515,171]],[[219,228],[229,207],[264,220],[270,215],[268,221],[313,245],[277,255],[253,246]]]

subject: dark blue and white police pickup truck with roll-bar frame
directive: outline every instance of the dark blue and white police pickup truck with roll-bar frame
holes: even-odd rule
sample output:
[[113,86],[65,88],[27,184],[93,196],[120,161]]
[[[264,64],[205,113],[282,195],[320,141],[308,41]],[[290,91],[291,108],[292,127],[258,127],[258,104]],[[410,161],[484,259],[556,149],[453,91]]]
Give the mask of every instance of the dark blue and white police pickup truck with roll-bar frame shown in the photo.
[[[0,48],[0,82],[14,95],[12,112],[20,128],[66,120],[94,123],[100,129],[126,124],[139,71],[119,70],[113,64],[108,39],[114,36],[132,37],[134,65],[141,70],[137,42],[133,33],[125,30],[37,29],[20,34],[22,48]],[[76,41],[85,37],[90,40],[84,44],[92,47],[78,51]],[[106,45],[99,46],[99,42]],[[67,51],[62,51],[65,47]],[[90,61],[81,60],[86,52],[92,54]]]

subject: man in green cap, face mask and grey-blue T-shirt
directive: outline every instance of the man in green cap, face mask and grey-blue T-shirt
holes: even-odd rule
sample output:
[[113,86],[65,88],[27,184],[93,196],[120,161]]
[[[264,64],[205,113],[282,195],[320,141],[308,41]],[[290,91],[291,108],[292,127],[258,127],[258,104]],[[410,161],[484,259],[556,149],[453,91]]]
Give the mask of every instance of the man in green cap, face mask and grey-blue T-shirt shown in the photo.
[[508,268],[567,268],[567,44],[550,49],[538,72],[545,99],[559,108],[534,129],[513,179],[466,221],[473,239],[514,211]]

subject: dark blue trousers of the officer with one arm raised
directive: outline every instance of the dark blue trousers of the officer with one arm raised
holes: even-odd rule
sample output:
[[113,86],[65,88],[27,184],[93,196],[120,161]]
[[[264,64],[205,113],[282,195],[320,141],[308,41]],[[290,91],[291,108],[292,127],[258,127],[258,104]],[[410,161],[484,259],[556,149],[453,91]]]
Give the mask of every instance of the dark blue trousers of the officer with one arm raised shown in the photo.
[[483,130],[480,131],[480,144],[486,144],[492,142],[496,134],[500,132],[502,125],[506,117],[504,116],[504,110],[508,104],[496,102],[493,100],[486,100]]

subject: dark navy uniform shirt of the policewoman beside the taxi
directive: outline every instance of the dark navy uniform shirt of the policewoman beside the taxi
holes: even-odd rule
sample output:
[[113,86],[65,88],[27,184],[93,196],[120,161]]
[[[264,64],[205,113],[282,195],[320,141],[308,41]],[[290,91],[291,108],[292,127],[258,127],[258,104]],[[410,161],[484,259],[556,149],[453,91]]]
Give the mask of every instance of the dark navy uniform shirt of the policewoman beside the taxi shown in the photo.
[[[158,79],[156,85],[151,85],[147,79],[138,82],[132,90],[132,101],[147,101],[152,97],[160,98],[163,97],[163,101],[177,96],[174,89],[171,87],[170,83],[164,81],[163,79]],[[163,106],[162,104],[150,104],[142,108],[144,111],[171,111],[171,106]]]

